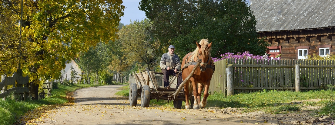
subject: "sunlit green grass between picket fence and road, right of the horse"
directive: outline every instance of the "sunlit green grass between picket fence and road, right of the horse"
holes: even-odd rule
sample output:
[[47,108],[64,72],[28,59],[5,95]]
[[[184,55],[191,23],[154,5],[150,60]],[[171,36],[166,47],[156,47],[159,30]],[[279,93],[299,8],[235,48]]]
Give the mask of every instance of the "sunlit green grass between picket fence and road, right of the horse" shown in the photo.
[[[245,112],[264,110],[267,113],[277,114],[281,111],[295,111],[294,107],[299,105],[322,105],[326,102],[306,102],[300,104],[291,103],[293,100],[307,99],[334,99],[334,90],[311,90],[306,92],[294,91],[259,91],[254,93],[240,93],[233,96],[225,97],[222,93],[214,93],[208,97],[208,107],[220,108],[247,108]],[[288,109],[285,109],[285,106]],[[266,109],[266,110],[265,110]],[[296,109],[299,110],[299,109]]]

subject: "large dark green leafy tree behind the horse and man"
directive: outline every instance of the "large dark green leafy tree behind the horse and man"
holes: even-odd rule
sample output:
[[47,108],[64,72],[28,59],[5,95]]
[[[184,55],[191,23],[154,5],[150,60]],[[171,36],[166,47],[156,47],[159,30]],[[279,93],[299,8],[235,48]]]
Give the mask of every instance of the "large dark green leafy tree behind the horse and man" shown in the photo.
[[151,33],[176,53],[193,51],[195,42],[203,38],[212,43],[212,57],[226,52],[263,55],[266,46],[258,39],[256,19],[250,6],[241,0],[141,0],[140,10],[152,21]]

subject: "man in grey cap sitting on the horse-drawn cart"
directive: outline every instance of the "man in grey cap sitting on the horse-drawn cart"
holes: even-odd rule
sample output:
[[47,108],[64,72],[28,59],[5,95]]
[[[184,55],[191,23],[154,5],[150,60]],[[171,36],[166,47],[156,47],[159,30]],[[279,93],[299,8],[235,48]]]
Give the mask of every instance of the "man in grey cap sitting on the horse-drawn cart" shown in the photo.
[[[180,71],[181,64],[178,55],[175,54],[175,46],[169,46],[169,52],[164,53],[160,59],[160,69],[163,73],[164,87],[167,88],[170,85],[169,75],[176,76],[178,71]],[[182,74],[178,74],[177,77],[177,87],[183,82]]]

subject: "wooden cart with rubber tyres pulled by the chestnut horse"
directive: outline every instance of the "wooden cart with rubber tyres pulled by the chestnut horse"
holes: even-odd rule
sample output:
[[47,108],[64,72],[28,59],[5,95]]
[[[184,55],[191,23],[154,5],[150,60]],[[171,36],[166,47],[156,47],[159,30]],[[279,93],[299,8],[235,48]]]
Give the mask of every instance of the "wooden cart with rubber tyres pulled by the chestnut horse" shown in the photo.
[[[158,86],[157,80],[155,78],[155,73],[149,70],[139,73],[134,73],[136,83],[130,83],[129,85],[129,103],[130,106],[137,105],[137,97],[141,97],[141,107],[149,107],[151,99],[163,99],[173,101],[175,108],[180,109],[182,107],[182,102],[185,101],[184,91],[180,91],[179,94],[174,98],[174,93],[177,88],[164,88]],[[181,75],[181,74],[179,74]],[[171,83],[170,83],[171,85]],[[192,96],[193,98],[193,96]],[[194,100],[194,98],[191,100]]]

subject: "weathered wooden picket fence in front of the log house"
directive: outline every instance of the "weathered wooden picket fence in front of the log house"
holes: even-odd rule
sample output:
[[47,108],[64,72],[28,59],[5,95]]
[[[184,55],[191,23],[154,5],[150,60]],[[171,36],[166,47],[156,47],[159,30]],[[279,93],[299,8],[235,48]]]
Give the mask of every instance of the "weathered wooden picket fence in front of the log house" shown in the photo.
[[295,64],[300,65],[300,89],[334,86],[335,60],[228,59],[235,93],[263,89],[295,89]]

